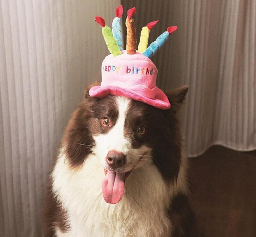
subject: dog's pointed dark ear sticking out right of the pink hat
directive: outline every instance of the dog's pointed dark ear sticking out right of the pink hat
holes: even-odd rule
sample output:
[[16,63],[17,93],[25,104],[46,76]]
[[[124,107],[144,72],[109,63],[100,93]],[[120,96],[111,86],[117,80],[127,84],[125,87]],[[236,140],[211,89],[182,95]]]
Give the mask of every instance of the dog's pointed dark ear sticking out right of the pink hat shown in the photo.
[[185,99],[185,96],[188,92],[188,86],[182,86],[171,91],[167,91],[165,94],[167,95],[171,108],[170,110],[174,113],[180,110],[180,107]]

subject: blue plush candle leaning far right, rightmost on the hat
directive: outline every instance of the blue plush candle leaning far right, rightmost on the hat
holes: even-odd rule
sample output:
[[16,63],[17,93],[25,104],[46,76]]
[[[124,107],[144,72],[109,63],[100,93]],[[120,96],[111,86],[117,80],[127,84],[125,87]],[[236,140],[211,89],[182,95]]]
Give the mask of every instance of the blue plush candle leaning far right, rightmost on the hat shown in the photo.
[[154,42],[152,42],[148,48],[142,53],[146,57],[151,58],[168,40],[169,36],[177,30],[177,26],[170,26],[167,31],[159,35]]

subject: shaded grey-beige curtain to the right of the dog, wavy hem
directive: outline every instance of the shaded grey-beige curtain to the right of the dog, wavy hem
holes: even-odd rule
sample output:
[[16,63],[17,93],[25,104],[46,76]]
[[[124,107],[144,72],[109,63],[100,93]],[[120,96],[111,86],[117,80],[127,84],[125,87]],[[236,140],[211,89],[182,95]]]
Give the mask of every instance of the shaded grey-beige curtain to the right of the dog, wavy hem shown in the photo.
[[138,41],[141,28],[150,21],[159,20],[149,43],[168,26],[178,26],[152,61],[160,88],[189,85],[180,114],[188,156],[214,144],[254,150],[255,1],[121,2],[124,9],[137,9],[133,18]]

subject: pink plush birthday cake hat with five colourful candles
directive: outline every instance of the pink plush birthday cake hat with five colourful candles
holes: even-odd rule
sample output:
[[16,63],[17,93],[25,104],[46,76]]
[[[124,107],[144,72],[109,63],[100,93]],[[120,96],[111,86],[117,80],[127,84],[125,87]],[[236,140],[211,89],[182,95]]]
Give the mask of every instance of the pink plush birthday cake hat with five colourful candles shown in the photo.
[[125,96],[149,104],[159,109],[169,109],[170,102],[162,90],[156,87],[157,68],[150,58],[163,46],[169,36],[177,30],[170,26],[148,46],[150,30],[158,21],[144,26],[140,34],[138,51],[136,50],[136,29],[132,16],[135,7],[127,11],[125,25],[127,27],[126,50],[122,46],[122,29],[120,17],[123,6],[116,8],[116,17],[112,22],[112,31],[105,25],[105,20],[96,16],[96,22],[102,26],[102,34],[111,53],[102,62],[100,86],[89,90],[92,97],[103,98],[109,94]]

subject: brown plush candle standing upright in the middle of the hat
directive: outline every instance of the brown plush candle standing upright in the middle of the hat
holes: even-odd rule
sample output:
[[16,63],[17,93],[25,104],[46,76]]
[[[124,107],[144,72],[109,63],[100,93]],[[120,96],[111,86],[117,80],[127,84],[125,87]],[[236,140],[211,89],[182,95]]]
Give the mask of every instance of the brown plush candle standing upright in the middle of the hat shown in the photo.
[[125,21],[125,25],[127,28],[127,36],[126,36],[126,52],[127,54],[135,54],[136,53],[136,28],[134,20],[132,16],[136,13],[136,8],[133,7],[127,11],[127,18]]

